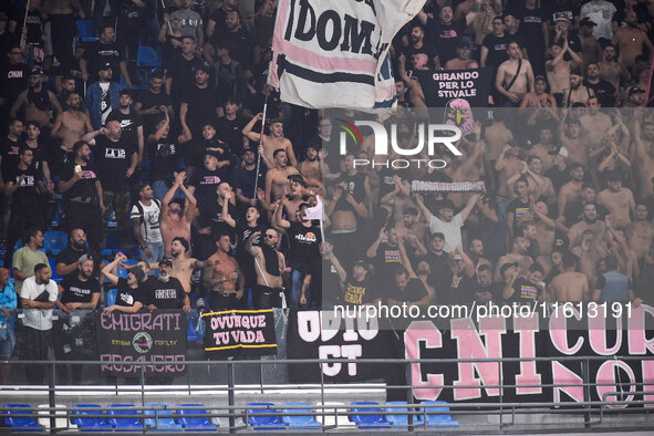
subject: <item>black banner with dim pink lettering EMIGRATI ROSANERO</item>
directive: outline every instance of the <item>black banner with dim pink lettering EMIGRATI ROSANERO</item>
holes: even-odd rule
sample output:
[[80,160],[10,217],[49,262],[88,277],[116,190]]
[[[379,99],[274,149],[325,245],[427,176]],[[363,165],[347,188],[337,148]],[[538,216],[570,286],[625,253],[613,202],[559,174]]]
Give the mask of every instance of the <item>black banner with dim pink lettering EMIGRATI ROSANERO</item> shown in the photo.
[[[177,376],[186,374],[186,334],[188,320],[181,311],[152,313],[96,313],[97,353],[101,361],[167,362],[145,365],[146,374]],[[138,365],[102,365],[105,376],[141,374]]]

